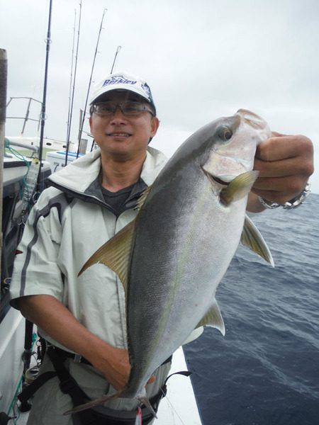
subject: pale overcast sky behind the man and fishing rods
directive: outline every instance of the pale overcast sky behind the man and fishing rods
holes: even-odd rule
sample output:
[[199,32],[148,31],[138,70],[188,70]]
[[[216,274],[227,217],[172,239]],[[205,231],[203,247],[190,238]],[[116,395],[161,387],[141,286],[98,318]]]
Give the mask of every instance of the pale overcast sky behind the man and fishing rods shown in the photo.
[[[47,0],[1,0],[0,47],[9,59],[8,98],[43,97]],[[65,140],[74,9],[53,0],[45,135]],[[201,125],[239,108],[262,115],[273,130],[303,134],[319,164],[318,0],[83,0],[72,140],[84,107],[103,8],[108,8],[94,80],[111,70],[144,77],[161,125],[152,146],[171,155]],[[23,114],[26,103],[7,115]],[[37,116],[39,107],[33,108]],[[21,122],[7,120],[6,135]],[[28,125],[26,135],[35,135]],[[312,181],[319,193],[319,171]]]

